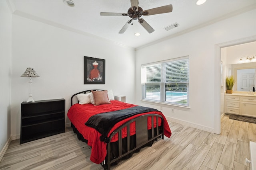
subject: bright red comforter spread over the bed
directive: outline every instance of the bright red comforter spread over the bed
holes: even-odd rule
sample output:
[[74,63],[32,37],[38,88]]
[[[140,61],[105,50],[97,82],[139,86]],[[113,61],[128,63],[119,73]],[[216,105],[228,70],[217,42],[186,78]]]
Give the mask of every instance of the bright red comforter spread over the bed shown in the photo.
[[[101,134],[96,131],[96,129],[92,127],[86,126],[84,123],[92,116],[98,113],[105,113],[109,111],[116,111],[120,109],[126,109],[129,107],[134,107],[137,105],[133,104],[127,104],[124,102],[119,102],[116,100],[111,101],[112,104],[103,104],[99,106],[94,106],[92,104],[74,104],[70,107],[68,110],[68,118],[72,122],[72,124],[76,127],[76,129],[83,135],[84,139],[88,140],[88,145],[92,147],[92,153],[90,160],[96,164],[100,164],[106,157],[107,151],[106,151],[106,143],[100,141]],[[111,129],[111,131],[108,133],[108,136],[114,131],[114,129],[118,128],[120,125],[124,124],[126,121],[133,119],[134,117],[138,117],[140,115],[144,114],[158,114],[162,115],[164,118],[164,135],[166,137],[171,136],[170,127],[166,121],[166,118],[160,111],[151,111],[148,113],[140,113],[138,115],[134,115],[128,119],[125,119],[123,121],[120,121],[114,125],[114,127]],[[150,118],[150,117],[149,117]],[[136,133],[135,130],[135,123],[134,125],[130,125],[130,135],[134,135]],[[161,119],[158,119],[158,125],[161,125]],[[154,119],[154,127],[156,127],[156,119]],[[151,118],[148,119],[148,129],[151,129]],[[126,128],[122,129],[122,138],[127,136]],[[111,142],[118,140],[118,134],[114,135]]]

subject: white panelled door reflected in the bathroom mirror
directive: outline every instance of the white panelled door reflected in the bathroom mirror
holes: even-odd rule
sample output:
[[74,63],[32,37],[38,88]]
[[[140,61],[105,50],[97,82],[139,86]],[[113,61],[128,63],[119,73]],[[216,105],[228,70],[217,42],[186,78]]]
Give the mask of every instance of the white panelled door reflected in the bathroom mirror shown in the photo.
[[248,73],[248,74],[242,74],[242,85],[241,85],[241,91],[248,92],[253,89],[254,87],[254,74]]

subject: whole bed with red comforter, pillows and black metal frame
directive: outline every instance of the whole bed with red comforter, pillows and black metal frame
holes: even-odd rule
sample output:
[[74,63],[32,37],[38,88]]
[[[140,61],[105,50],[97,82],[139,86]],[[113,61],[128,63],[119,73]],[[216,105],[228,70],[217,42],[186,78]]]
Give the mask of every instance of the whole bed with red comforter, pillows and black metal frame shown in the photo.
[[112,90],[72,95],[67,115],[78,139],[92,147],[90,160],[105,170],[172,134],[160,111],[114,100]]

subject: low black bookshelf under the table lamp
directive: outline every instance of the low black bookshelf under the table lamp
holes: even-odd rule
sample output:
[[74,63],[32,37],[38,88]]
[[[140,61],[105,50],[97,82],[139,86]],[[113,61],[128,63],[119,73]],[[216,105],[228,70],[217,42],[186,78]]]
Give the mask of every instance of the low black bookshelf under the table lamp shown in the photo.
[[22,102],[20,144],[65,132],[65,99]]

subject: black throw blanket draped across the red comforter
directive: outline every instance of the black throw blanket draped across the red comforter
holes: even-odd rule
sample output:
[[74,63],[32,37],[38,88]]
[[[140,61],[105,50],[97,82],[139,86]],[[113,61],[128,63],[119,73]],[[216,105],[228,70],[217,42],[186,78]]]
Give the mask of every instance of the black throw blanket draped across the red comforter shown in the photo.
[[101,133],[102,136],[100,137],[100,141],[109,143],[110,139],[107,137],[107,135],[110,132],[110,129],[114,127],[116,123],[128,117],[150,111],[158,110],[150,107],[134,106],[128,109],[99,113],[90,117],[85,125],[92,127]]

